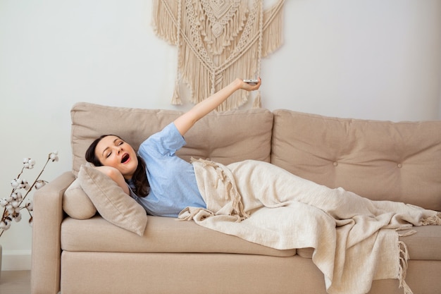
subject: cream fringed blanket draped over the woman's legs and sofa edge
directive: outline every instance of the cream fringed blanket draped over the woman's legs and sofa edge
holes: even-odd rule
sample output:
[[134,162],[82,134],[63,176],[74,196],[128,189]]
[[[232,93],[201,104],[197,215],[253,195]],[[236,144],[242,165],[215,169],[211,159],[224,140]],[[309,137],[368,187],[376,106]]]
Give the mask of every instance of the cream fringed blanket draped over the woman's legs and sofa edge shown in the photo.
[[207,209],[188,207],[180,219],[276,249],[313,247],[330,294],[368,293],[383,278],[411,293],[397,231],[441,224],[437,212],[326,188],[261,161],[193,165]]

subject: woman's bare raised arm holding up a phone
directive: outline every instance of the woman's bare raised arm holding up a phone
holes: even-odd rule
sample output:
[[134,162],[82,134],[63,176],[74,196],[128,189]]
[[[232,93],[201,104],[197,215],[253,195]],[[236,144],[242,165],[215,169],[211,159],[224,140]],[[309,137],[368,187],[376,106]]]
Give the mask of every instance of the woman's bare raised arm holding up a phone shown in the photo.
[[237,78],[236,80],[231,82],[230,85],[227,85],[222,90],[219,90],[207,99],[194,105],[193,108],[190,109],[190,111],[187,111],[185,114],[182,114],[182,116],[176,118],[176,120],[174,121],[175,126],[181,135],[185,135],[185,133],[187,133],[187,131],[192,128],[194,123],[206,116],[206,114],[209,114],[209,112],[213,111],[213,109],[216,109],[216,107],[221,105],[221,103],[224,102],[228,97],[230,97],[232,93],[240,89],[254,91],[259,89],[260,85],[260,78],[259,82],[256,85],[249,85],[242,79]]

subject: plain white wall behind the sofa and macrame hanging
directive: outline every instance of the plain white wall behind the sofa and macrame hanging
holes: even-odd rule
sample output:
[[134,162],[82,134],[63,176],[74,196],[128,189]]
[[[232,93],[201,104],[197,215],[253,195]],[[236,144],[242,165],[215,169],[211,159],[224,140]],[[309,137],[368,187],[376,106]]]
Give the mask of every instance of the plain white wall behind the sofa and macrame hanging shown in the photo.
[[[35,173],[58,149],[46,180],[70,169],[75,102],[190,107],[169,104],[176,48],[154,35],[150,14],[148,0],[0,0],[0,197],[23,157]],[[441,118],[441,0],[287,0],[284,30],[262,62],[264,107]],[[30,267],[31,234],[24,218],[1,236],[4,269]]]

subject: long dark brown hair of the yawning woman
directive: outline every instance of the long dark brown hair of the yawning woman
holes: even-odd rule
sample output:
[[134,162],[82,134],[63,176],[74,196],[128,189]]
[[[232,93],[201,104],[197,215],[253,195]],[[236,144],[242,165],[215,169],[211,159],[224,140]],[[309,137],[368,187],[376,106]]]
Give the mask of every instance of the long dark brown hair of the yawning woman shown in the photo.
[[[101,137],[94,140],[94,142],[92,142],[89,148],[87,148],[85,154],[86,160],[91,164],[93,164],[94,166],[103,165],[101,164],[101,161],[99,161],[98,157],[95,155],[95,149],[97,148],[97,145],[101,141],[101,139],[107,136],[115,136],[123,140],[123,138],[117,135],[102,135]],[[146,197],[147,195],[149,195],[149,191],[150,191],[149,180],[147,180],[146,164],[144,162],[144,159],[139,157],[139,155],[137,155],[137,159],[138,159],[138,166],[136,168],[135,173],[133,173],[132,176],[133,183],[135,184],[135,191],[133,192],[135,192],[135,194],[139,197]]]

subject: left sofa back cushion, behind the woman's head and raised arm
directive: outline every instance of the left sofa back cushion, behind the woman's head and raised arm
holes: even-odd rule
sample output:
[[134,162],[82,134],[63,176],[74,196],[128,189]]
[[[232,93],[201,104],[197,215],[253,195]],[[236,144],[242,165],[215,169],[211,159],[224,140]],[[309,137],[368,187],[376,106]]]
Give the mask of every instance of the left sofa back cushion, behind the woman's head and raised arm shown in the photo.
[[[87,147],[101,135],[118,135],[137,149],[150,135],[178,118],[182,111],[132,109],[77,103],[70,111],[73,173],[85,164]],[[230,164],[245,159],[270,161],[273,114],[266,109],[212,112],[185,134],[187,145],[177,154]]]

